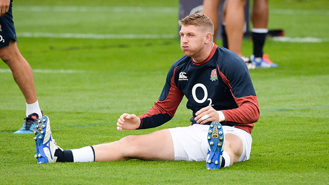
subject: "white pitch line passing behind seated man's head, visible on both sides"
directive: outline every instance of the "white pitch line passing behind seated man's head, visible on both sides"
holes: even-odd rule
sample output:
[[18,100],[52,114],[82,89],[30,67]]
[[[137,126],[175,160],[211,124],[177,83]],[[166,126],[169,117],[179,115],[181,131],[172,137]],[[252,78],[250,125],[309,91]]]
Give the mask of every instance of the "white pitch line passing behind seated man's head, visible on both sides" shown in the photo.
[[[175,39],[174,34],[93,34],[93,33],[30,33],[19,32],[18,37],[25,38],[66,38],[66,39]],[[319,38],[290,38],[288,36],[278,36],[270,40],[278,42],[295,43],[321,43],[328,42],[328,39]]]

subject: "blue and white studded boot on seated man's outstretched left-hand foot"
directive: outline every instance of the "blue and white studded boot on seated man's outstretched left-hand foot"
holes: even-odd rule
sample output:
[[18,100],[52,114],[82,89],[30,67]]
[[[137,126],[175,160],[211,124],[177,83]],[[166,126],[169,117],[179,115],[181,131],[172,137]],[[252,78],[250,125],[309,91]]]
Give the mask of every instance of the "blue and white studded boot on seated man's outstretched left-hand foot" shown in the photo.
[[57,157],[54,156],[57,149],[55,140],[52,138],[50,131],[50,121],[47,116],[40,119],[40,123],[36,126],[35,137],[36,155],[34,156],[38,163],[52,163],[56,162]]

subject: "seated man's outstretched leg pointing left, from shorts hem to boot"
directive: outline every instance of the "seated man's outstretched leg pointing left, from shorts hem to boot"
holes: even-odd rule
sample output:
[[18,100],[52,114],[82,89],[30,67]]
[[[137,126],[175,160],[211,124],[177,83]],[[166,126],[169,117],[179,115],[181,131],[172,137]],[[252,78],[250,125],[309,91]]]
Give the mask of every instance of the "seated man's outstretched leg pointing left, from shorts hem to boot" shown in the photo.
[[148,135],[127,136],[119,141],[63,151],[54,142],[47,116],[41,119],[35,133],[38,163],[119,161],[128,159],[174,160],[174,146],[169,130]]

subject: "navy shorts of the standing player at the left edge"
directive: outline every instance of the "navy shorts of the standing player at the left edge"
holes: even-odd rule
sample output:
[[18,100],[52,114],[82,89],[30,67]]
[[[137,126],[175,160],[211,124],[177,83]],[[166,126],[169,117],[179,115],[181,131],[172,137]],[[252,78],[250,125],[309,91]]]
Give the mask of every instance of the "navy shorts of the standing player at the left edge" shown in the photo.
[[14,21],[12,20],[12,0],[7,13],[0,17],[0,48],[9,46],[10,40],[17,41]]

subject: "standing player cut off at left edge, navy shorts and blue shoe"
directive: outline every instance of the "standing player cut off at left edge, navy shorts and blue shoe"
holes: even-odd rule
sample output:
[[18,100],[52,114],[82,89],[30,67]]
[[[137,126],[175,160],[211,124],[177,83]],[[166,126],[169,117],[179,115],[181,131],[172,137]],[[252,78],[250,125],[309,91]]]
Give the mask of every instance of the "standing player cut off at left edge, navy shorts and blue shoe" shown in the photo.
[[32,68],[17,47],[12,0],[0,0],[0,58],[9,66],[26,100],[24,124],[14,134],[32,134],[43,114],[36,98]]

